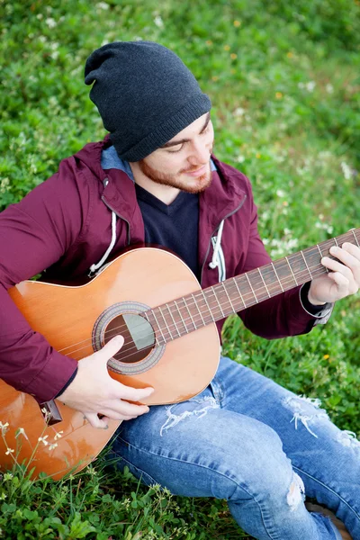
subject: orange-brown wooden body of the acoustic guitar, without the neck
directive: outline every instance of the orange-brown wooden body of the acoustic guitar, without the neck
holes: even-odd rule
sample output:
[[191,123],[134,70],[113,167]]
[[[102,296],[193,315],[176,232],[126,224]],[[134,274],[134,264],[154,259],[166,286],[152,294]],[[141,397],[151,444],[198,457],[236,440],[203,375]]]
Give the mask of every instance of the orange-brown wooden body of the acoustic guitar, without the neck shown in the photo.
[[[161,324],[152,329],[138,313],[200,289],[178,257],[142,247],[114,259],[88,284],[26,281],[9,293],[31,328],[65,356],[79,360],[117,333],[124,335],[124,347],[109,363],[109,373],[135,388],[153,386],[155,392],[144,402],[154,405],[184,401],[202,392],[219,363],[219,335],[214,323],[182,337],[166,326],[167,338],[173,339],[161,344]],[[56,405],[61,420],[47,425],[30,395],[0,381],[0,421],[9,424],[6,445],[14,450],[5,455],[7,447],[0,438],[1,469],[11,467],[16,456],[19,463],[31,459],[35,475],[44,472],[59,479],[94,460],[120,425],[111,421],[108,429],[95,429],[81,413],[58,400]],[[19,428],[27,438],[22,433],[16,437]]]

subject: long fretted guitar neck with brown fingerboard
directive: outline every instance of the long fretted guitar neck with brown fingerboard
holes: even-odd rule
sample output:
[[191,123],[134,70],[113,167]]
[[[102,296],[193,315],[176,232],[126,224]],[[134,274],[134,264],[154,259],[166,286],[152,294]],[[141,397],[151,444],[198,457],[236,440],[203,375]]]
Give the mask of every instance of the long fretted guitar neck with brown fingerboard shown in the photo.
[[165,345],[326,274],[328,270],[320,264],[321,258],[331,257],[330,247],[342,246],[344,242],[360,247],[360,229],[351,229],[337,238],[147,311],[145,315],[155,330],[157,345]]

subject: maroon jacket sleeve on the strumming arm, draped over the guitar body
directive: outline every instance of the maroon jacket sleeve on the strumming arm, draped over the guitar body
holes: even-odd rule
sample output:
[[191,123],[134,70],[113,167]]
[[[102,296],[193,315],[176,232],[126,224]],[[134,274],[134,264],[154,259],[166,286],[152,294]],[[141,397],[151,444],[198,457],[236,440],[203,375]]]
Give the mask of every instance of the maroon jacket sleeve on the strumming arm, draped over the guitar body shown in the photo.
[[61,391],[77,362],[30,328],[7,290],[58,261],[80,234],[85,205],[74,163],[66,161],[57,175],[0,213],[0,378],[40,402]]

